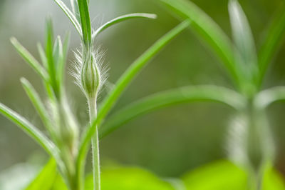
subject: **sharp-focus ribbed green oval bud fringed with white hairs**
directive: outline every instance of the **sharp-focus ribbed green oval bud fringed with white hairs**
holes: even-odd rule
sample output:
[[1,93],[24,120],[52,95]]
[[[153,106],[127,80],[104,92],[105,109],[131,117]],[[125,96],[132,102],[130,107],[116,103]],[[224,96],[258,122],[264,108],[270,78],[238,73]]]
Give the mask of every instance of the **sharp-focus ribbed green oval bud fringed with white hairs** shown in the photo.
[[88,54],[83,60],[81,69],[81,87],[89,99],[98,95],[100,87],[100,71],[95,56]]

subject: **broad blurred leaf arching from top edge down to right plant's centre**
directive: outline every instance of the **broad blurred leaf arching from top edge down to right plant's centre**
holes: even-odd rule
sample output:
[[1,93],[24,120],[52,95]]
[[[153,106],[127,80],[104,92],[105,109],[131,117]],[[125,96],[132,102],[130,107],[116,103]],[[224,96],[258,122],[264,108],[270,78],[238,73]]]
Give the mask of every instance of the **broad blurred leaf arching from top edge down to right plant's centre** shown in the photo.
[[198,6],[187,0],[160,0],[172,11],[192,21],[191,28],[206,41],[222,60],[234,82],[239,84],[240,74],[236,70],[232,42],[224,31]]

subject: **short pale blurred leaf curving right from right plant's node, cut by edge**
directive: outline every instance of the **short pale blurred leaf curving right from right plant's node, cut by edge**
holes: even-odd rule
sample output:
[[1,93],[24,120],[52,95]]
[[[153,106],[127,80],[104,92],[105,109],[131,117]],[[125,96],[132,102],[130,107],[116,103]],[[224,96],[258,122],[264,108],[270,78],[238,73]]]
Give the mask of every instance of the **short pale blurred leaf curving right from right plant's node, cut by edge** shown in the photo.
[[254,99],[254,104],[259,109],[265,109],[270,104],[275,101],[285,100],[285,86],[275,86],[271,89],[266,89],[257,94],[256,99]]

